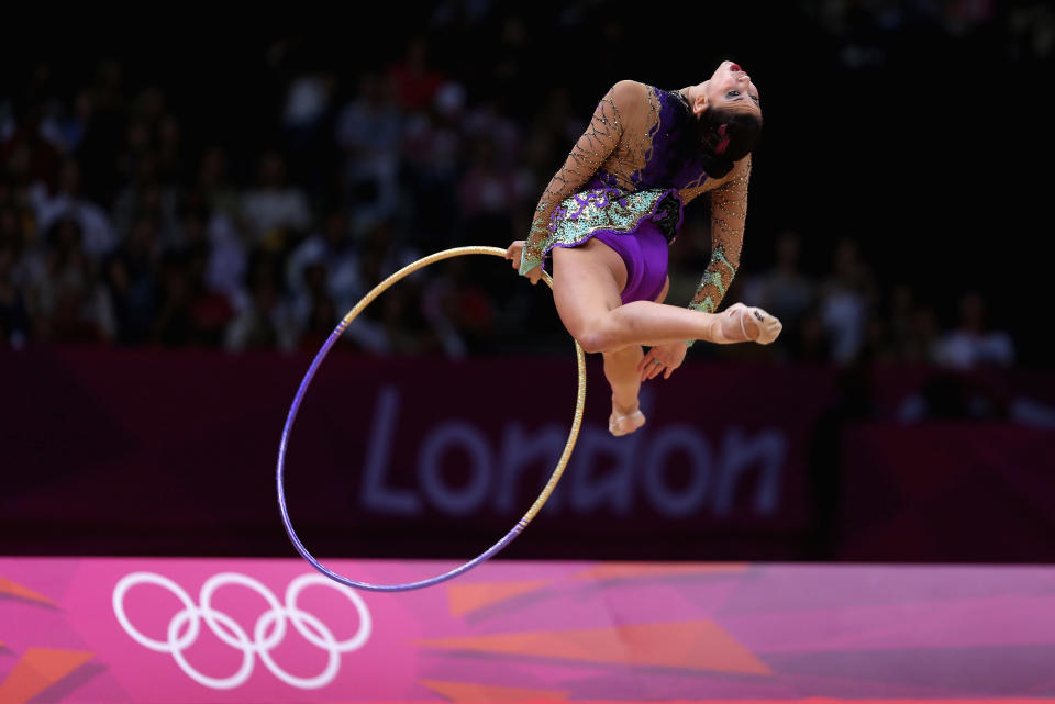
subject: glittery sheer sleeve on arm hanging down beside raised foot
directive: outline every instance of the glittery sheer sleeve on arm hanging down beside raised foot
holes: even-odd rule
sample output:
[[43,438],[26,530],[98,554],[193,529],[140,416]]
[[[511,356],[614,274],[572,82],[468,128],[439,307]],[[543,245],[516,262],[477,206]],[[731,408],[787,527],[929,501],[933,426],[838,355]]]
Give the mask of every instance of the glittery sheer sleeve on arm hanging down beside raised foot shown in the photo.
[[713,313],[718,310],[740,267],[747,217],[747,181],[751,157],[737,164],[729,180],[711,191],[711,261],[689,308]]

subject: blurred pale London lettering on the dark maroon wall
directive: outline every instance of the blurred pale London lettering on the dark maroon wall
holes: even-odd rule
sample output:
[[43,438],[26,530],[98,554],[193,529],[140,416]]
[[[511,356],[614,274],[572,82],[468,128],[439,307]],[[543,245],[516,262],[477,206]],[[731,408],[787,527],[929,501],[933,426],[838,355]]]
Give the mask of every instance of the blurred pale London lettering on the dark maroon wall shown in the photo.
[[[558,424],[530,433],[523,424],[512,422],[502,428],[501,445],[493,447],[475,424],[444,422],[420,440],[418,490],[400,489],[390,484],[399,405],[399,391],[392,385],[382,387],[375,406],[360,493],[364,507],[375,513],[420,515],[426,501],[449,516],[464,516],[486,507],[500,515],[518,514],[534,499],[521,495],[525,476],[537,469],[541,489],[566,442],[567,431]],[[468,459],[469,478],[464,485],[454,487],[444,476],[443,460],[457,450],[464,454],[459,457]],[[700,428],[680,423],[658,428],[646,426],[617,438],[600,425],[584,424],[570,467],[549,499],[547,512],[567,506],[579,514],[608,511],[625,515],[643,499],[658,514],[671,518],[708,510],[722,517],[736,510],[744,483],[754,478],[749,510],[755,515],[771,515],[779,507],[787,454],[787,437],[777,428],[748,435],[743,428],[726,427],[717,437],[708,437]],[[669,481],[675,457],[688,460],[688,483],[681,489]],[[638,498],[638,491],[644,495]],[[740,505],[743,511],[743,504]]]

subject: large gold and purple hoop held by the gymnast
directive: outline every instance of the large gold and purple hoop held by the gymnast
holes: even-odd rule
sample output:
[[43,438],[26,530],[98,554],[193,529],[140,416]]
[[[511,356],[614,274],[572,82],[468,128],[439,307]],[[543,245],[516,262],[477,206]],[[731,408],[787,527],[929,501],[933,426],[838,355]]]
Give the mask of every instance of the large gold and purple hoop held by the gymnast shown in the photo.
[[[311,366],[308,368],[308,373],[306,373],[303,380],[301,380],[300,388],[297,389],[297,395],[293,396],[293,404],[290,406],[289,413],[286,415],[286,425],[282,428],[282,440],[278,446],[278,469],[276,471],[276,482],[278,484],[278,510],[282,515],[282,525],[286,526],[286,534],[289,536],[290,541],[293,544],[293,547],[297,548],[297,551],[300,552],[301,557],[308,560],[313,568],[333,581],[346,586],[353,586],[355,589],[362,589],[370,592],[407,592],[413,589],[423,589],[425,586],[438,584],[440,582],[445,582],[448,579],[453,579],[458,574],[462,574],[463,572],[468,572],[474,567],[477,567],[481,562],[495,557],[500,550],[502,550],[502,548],[512,543],[513,538],[520,535],[520,533],[528,527],[528,524],[531,523],[532,518],[535,517],[535,514],[537,514],[543,504],[546,503],[546,500],[549,499],[549,494],[553,493],[557,482],[560,481],[560,476],[564,473],[564,468],[567,466],[568,459],[571,457],[571,449],[575,447],[575,442],[579,437],[579,427],[582,424],[582,407],[586,402],[586,359],[582,355],[582,348],[579,347],[579,343],[576,342],[575,357],[576,361],[578,362],[579,387],[575,400],[575,418],[571,421],[571,432],[568,433],[567,443],[564,445],[564,452],[560,454],[560,459],[557,460],[557,466],[549,476],[549,480],[543,488],[542,493],[538,494],[538,498],[535,499],[535,502],[531,504],[531,507],[528,510],[528,513],[524,514],[523,518],[518,521],[517,525],[513,526],[509,533],[502,536],[498,543],[489,547],[479,556],[469,560],[465,565],[451,570],[449,572],[444,572],[443,574],[437,574],[436,577],[424,579],[419,582],[408,582],[406,584],[371,584],[369,582],[359,582],[348,579],[347,577],[338,574],[324,567],[311,555],[311,552],[308,551],[308,548],[304,547],[303,543],[301,543],[300,538],[297,536],[297,532],[293,530],[293,524],[289,518],[289,511],[286,509],[286,489],[284,485],[284,474],[286,471],[286,450],[289,447],[289,434],[293,427],[293,421],[297,420],[297,412],[300,410],[300,404],[308,391],[308,385],[311,383],[312,378],[319,370],[319,366],[322,364],[322,360],[325,359],[326,355],[330,353],[330,348],[333,347],[334,343],[337,342],[344,331],[348,327],[348,324],[352,323],[352,321],[354,321],[355,317],[374,301],[374,299],[388,290],[393,283],[413,273],[414,271],[418,271],[419,269],[423,269],[431,264],[435,264],[436,261],[473,254],[486,254],[497,257],[506,257],[506,250],[498,247],[455,247],[453,249],[444,249],[443,252],[437,252],[429,255],[427,257],[423,257],[418,261],[407,265],[374,287],[369,293],[363,297],[363,299],[355,304],[355,308],[348,311],[348,314],[344,316],[340,324],[337,324],[336,328],[330,333],[330,337],[326,338],[322,349],[319,350],[319,354],[315,355]],[[553,279],[549,278],[549,275],[543,271],[542,277],[545,279],[546,284],[552,289]]]

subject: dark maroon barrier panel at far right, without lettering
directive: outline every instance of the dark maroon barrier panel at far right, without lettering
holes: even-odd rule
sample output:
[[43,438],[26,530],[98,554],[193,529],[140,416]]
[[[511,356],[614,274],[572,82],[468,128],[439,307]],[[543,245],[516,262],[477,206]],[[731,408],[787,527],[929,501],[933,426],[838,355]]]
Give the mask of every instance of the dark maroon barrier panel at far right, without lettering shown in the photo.
[[1052,555],[1055,428],[860,423],[842,447],[844,559]]

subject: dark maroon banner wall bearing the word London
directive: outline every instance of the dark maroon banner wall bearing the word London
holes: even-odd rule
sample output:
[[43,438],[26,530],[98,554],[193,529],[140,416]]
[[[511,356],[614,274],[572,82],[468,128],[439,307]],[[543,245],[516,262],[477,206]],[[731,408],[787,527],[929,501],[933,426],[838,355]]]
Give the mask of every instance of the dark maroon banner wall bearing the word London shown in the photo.
[[[11,356],[0,365],[13,393],[0,403],[0,461],[14,471],[0,522],[25,526],[26,540],[58,532],[65,545],[78,528],[100,526],[140,552],[285,551],[269,474],[309,361],[113,350]],[[582,432],[542,514],[540,540],[559,548],[573,530],[603,546],[655,530],[777,544],[807,527],[806,467],[812,423],[833,393],[829,371],[690,362],[648,385],[642,432],[613,438],[598,361],[590,360]],[[400,539],[446,532],[449,546],[453,526],[466,539],[497,539],[553,470],[575,387],[570,349],[566,359],[473,362],[334,355],[290,440],[293,519],[311,546],[344,555],[362,555],[410,525],[414,535]],[[148,538],[137,545],[136,536]],[[129,549],[106,545],[106,552]],[[454,545],[449,554],[475,549]]]

